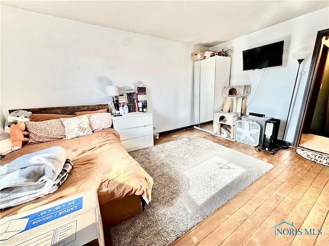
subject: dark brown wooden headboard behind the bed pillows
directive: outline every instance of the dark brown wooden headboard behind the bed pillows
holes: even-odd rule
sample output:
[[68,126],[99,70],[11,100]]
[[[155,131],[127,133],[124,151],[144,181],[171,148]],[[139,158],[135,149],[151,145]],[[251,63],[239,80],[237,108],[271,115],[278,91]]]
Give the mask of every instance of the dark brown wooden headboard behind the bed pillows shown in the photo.
[[54,108],[39,108],[39,109],[13,109],[9,110],[9,113],[15,110],[26,110],[32,112],[32,114],[74,114],[78,111],[94,111],[99,109],[107,109],[107,104],[97,105],[84,105],[84,106],[67,106],[67,107],[54,107]]

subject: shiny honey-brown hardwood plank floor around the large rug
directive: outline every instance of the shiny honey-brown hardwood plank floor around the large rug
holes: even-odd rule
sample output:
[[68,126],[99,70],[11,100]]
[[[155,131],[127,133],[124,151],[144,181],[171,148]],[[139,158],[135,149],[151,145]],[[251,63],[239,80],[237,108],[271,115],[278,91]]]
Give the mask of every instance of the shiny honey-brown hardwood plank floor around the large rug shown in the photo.
[[[195,129],[160,135],[155,145],[192,135],[267,161],[275,168],[171,245],[278,246],[329,243],[328,167],[304,159],[294,148],[279,150],[271,155]],[[282,224],[277,227],[279,235],[275,236],[274,227],[283,221],[289,224],[293,222],[294,227]],[[318,229],[321,235],[311,235],[317,234]],[[302,235],[293,235],[300,233]]]

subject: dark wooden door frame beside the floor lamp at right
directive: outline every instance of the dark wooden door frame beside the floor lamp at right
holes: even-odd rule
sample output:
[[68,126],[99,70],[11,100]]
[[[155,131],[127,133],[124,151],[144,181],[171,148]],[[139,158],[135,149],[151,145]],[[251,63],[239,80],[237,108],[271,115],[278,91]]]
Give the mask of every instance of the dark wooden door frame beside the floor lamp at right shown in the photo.
[[293,147],[298,147],[300,138],[302,136],[302,129],[304,126],[304,120],[306,117],[307,109],[309,107],[310,98],[312,96],[313,90],[314,90],[314,84],[315,84],[315,77],[316,77],[316,71],[317,71],[317,65],[318,65],[318,57],[320,56],[321,46],[322,46],[322,38],[324,36],[329,35],[329,29],[318,31],[313,55],[312,55],[312,61],[310,64],[309,74],[306,81],[306,87],[304,91],[304,96],[302,100],[301,105],[301,111],[299,114],[299,118],[297,121],[297,127],[295,131],[295,136],[293,140]]

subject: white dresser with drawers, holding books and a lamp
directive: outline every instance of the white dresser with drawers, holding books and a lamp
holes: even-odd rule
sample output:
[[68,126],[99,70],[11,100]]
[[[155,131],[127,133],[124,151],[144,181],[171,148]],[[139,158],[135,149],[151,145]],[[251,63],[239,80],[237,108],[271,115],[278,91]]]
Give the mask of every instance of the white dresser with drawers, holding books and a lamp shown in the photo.
[[126,151],[139,150],[154,145],[152,113],[129,113],[112,117],[113,128],[119,132]]

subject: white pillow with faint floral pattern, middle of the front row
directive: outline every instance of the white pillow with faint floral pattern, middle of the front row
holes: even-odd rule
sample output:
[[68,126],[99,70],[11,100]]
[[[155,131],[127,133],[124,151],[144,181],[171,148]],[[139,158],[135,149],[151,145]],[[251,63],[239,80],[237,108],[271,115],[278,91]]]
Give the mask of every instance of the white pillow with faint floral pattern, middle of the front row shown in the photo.
[[65,139],[72,139],[75,137],[85,136],[92,134],[92,129],[89,125],[89,115],[81,115],[72,118],[61,118],[60,119],[65,128]]

